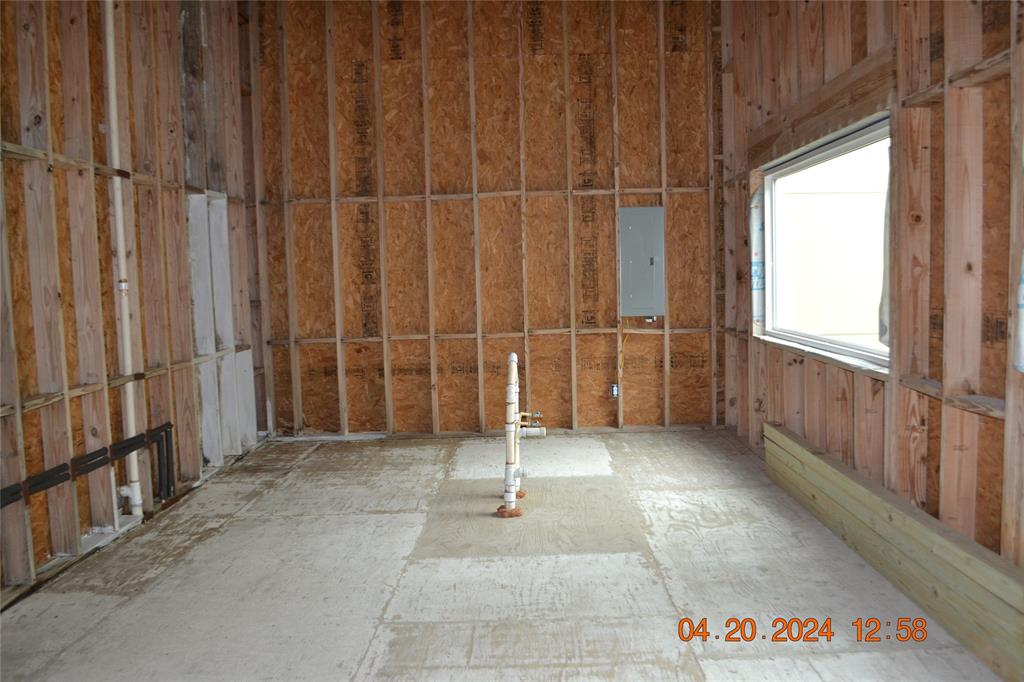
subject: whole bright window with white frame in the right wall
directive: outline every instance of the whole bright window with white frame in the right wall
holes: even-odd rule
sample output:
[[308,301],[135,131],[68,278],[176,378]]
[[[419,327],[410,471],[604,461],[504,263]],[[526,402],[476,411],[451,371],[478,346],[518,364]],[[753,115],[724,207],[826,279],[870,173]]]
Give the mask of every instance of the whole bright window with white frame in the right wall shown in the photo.
[[765,171],[766,335],[888,364],[888,121]]

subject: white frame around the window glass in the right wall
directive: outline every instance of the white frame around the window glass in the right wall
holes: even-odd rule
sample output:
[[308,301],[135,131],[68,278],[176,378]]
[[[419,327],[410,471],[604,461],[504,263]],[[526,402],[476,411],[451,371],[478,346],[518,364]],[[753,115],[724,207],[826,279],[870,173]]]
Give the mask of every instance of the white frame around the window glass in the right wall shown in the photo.
[[[883,139],[891,139],[889,117],[874,120],[852,130],[843,132],[841,135],[827,140],[821,144],[816,144],[810,150],[800,152],[793,157],[782,159],[763,169],[764,172],[764,251],[765,251],[765,289],[764,289],[764,311],[765,323],[763,336],[774,337],[796,343],[802,346],[809,346],[818,350],[823,350],[841,356],[855,357],[866,360],[880,367],[889,367],[889,353],[883,354],[872,352],[863,346],[846,344],[835,339],[808,334],[797,330],[782,329],[775,324],[775,310],[777,308],[775,295],[775,206],[774,190],[775,180],[791,175],[798,171],[805,170],[820,163],[829,161],[855,150],[873,144]],[[889,193],[892,200],[892,163],[890,161],[889,172]],[[890,245],[891,246],[891,245]],[[888,251],[888,250],[887,250]],[[887,321],[887,324],[888,321]],[[891,329],[891,327],[890,327]]]

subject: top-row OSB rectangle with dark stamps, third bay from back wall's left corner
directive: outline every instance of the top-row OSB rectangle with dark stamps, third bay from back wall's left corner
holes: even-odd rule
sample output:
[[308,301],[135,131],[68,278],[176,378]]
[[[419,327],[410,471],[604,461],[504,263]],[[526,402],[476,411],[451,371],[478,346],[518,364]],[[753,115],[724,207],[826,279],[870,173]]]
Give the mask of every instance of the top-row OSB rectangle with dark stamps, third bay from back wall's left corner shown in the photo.
[[377,191],[371,5],[336,2],[332,9],[338,193],[344,197],[370,197]]

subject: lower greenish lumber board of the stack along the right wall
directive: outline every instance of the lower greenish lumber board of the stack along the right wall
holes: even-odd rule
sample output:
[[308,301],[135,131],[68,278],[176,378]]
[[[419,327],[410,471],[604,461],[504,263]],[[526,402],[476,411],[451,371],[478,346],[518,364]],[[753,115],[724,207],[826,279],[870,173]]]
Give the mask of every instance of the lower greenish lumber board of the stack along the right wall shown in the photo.
[[1007,638],[994,638],[978,629],[973,619],[965,619],[962,598],[955,591],[937,593],[933,585],[915,574],[916,562],[882,539],[856,517],[847,513],[827,495],[809,484],[778,457],[766,460],[769,477],[807,507],[818,519],[840,536],[864,559],[886,576],[932,617],[967,645],[979,658],[1006,679],[1017,680],[1024,673],[1024,649]]

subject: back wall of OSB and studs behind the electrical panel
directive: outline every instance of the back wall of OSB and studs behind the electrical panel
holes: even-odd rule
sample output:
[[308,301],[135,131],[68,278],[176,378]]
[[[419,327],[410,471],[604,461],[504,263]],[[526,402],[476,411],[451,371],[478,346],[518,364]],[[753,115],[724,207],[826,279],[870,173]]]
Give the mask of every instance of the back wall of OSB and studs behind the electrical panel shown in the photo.
[[[717,4],[258,14],[276,430],[501,428],[511,350],[549,427],[721,418]],[[667,209],[654,324],[616,313],[630,205]]]

